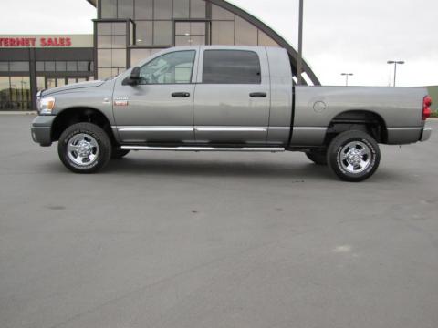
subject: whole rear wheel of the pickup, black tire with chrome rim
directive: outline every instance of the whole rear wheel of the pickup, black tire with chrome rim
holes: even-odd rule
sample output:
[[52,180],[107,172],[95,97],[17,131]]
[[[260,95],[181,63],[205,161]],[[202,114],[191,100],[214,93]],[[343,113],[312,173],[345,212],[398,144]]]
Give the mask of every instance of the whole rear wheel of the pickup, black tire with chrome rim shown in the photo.
[[331,141],[327,161],[328,167],[340,179],[360,182],[370,178],[379,167],[381,150],[369,134],[356,130],[346,131]]

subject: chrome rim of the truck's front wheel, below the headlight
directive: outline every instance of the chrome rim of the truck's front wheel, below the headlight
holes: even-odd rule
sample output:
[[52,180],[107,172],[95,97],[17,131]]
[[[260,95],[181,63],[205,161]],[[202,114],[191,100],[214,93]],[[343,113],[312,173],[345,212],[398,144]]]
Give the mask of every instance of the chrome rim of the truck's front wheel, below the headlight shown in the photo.
[[87,133],[79,133],[69,138],[68,159],[78,166],[89,166],[98,159],[98,141]]

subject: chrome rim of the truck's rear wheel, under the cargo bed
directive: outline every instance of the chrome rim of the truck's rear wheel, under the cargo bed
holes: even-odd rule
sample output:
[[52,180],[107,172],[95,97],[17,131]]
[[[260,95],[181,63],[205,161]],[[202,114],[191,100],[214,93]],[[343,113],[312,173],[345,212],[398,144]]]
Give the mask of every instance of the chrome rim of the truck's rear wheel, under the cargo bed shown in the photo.
[[358,174],[368,169],[371,164],[371,149],[361,141],[349,142],[339,152],[339,162],[342,169]]

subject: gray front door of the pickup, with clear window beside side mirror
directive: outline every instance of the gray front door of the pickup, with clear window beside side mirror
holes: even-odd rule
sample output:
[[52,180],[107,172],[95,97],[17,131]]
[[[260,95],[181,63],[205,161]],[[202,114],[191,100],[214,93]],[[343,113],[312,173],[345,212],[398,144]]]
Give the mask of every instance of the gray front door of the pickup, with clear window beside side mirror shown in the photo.
[[113,111],[124,143],[193,142],[193,67],[196,48],[157,56],[140,79],[114,88]]

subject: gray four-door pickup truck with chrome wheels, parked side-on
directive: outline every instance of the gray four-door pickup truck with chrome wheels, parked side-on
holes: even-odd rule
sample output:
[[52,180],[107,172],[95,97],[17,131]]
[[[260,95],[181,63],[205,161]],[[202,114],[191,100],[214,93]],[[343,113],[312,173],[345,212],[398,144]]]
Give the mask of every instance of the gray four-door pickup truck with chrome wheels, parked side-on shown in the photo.
[[302,151],[340,179],[369,178],[378,144],[430,138],[425,88],[296,86],[282,48],[163,50],[105,81],[37,95],[32,138],[91,173],[130,150]]

